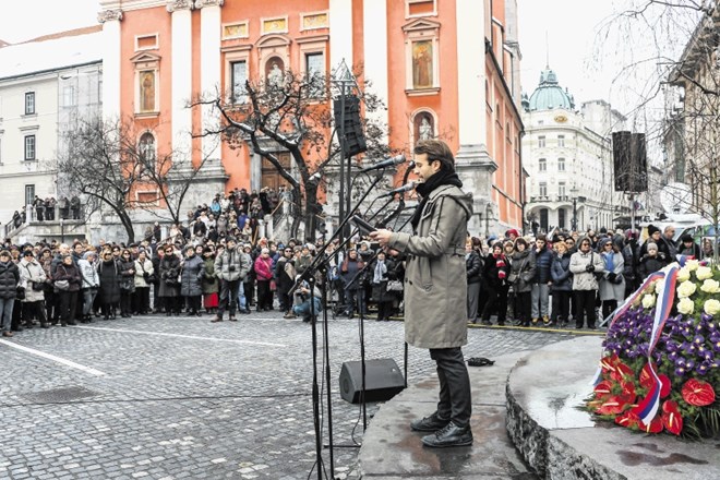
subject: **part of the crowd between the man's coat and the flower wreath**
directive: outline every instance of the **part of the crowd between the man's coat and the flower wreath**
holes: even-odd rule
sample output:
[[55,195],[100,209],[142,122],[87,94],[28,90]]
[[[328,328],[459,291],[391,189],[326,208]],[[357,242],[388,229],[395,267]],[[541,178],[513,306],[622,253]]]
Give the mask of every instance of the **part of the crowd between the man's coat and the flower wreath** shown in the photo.
[[640,241],[633,230],[554,232],[525,238],[468,238],[468,321],[515,326],[598,326],[651,273],[685,255],[711,259],[712,242],[691,235],[673,240],[675,228],[649,225]]

